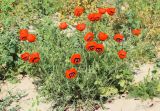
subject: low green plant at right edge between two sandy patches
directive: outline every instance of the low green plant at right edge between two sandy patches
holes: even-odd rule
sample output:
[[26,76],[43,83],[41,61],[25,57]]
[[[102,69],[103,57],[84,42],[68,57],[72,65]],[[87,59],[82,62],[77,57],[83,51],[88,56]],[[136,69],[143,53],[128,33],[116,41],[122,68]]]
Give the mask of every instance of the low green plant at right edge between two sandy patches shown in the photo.
[[144,81],[132,85],[129,95],[142,99],[153,99],[154,97],[160,97],[158,60],[156,61],[154,69],[152,70],[152,75],[148,75],[146,78],[144,78]]

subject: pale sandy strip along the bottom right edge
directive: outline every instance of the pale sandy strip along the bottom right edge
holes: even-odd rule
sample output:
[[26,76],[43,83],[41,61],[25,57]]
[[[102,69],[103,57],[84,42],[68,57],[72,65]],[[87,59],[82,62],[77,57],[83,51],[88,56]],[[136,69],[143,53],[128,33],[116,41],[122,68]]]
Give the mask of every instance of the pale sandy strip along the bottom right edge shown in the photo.
[[160,99],[141,101],[121,98],[112,103],[106,103],[104,107],[106,109],[98,111],[160,111]]

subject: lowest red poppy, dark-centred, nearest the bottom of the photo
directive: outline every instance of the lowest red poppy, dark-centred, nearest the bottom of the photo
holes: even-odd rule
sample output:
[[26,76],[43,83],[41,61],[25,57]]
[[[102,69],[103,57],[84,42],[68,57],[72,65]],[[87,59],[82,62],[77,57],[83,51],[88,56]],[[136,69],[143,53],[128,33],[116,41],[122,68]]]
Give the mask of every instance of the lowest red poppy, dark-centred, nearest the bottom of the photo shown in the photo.
[[75,68],[71,68],[69,70],[66,70],[66,78],[67,79],[73,79],[77,76],[77,70]]

